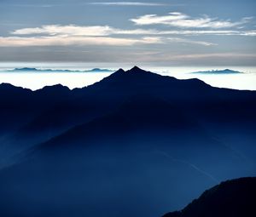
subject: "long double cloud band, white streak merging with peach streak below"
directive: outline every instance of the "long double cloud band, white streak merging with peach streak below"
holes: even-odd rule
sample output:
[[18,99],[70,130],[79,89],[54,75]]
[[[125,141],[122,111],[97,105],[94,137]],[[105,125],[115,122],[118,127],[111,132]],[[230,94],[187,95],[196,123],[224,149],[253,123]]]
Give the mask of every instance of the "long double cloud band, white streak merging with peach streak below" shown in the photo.
[[[74,26],[48,25],[22,28],[12,31],[19,37],[0,37],[0,47],[67,46],[67,45],[109,45],[131,46],[134,44],[182,43],[200,46],[215,46],[201,40],[172,36],[256,36],[256,31],[159,31],[155,29],[122,30],[111,26]],[[131,37],[113,37],[130,35]],[[142,36],[142,37],[135,37]]]

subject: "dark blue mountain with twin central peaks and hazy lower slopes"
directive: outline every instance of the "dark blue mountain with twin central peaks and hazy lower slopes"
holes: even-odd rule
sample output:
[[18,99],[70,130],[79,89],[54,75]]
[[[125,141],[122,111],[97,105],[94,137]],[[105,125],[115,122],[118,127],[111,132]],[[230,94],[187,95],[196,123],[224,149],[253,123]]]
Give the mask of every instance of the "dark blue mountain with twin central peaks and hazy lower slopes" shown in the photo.
[[155,217],[256,174],[255,91],[134,67],[0,99],[2,216]]

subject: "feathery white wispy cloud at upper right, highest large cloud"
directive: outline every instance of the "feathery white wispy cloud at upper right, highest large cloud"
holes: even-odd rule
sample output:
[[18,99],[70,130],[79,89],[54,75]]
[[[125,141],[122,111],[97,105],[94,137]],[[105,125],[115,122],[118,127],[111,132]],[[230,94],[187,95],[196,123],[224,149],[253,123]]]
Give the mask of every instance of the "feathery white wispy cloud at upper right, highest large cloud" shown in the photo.
[[131,21],[139,26],[146,25],[167,25],[175,26],[180,28],[230,28],[235,26],[242,26],[252,20],[252,17],[245,17],[239,21],[232,22],[230,20],[218,20],[217,18],[211,18],[204,15],[200,18],[191,18],[187,14],[180,12],[172,12],[164,16],[159,16],[157,14],[146,14]]

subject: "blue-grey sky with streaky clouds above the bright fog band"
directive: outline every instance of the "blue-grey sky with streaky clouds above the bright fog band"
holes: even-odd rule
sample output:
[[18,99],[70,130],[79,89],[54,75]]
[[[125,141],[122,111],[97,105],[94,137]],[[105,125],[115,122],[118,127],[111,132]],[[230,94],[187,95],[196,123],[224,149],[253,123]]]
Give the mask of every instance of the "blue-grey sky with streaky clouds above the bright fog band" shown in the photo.
[[0,62],[256,66],[256,1],[0,0]]

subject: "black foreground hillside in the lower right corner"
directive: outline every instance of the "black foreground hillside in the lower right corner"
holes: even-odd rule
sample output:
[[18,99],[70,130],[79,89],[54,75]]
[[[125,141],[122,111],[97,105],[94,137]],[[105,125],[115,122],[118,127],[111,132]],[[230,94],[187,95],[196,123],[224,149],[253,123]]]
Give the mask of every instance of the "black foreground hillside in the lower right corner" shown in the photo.
[[255,216],[256,178],[222,182],[205,191],[181,211],[163,217],[240,217]]

